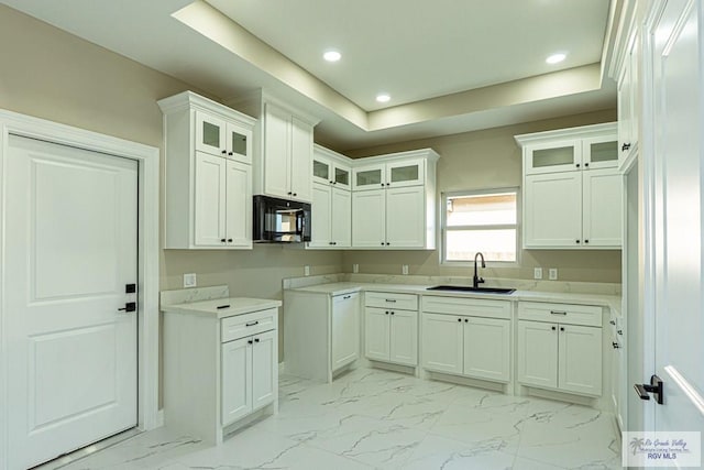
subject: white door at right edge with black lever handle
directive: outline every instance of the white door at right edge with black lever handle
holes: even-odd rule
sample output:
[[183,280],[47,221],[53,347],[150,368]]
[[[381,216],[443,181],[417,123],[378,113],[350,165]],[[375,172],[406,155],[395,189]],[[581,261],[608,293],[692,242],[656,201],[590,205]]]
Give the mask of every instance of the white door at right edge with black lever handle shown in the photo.
[[654,372],[664,383],[663,404],[652,405],[654,430],[704,430],[703,8],[696,1],[667,2],[652,36],[659,228],[652,330]]

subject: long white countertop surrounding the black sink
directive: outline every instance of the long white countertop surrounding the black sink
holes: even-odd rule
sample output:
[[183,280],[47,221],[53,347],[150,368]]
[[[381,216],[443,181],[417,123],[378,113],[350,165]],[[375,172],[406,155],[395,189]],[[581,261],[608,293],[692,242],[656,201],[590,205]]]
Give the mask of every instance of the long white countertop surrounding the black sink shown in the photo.
[[307,287],[297,287],[288,291],[309,292],[327,295],[342,295],[351,292],[373,291],[393,292],[402,294],[432,295],[438,297],[468,297],[468,298],[491,298],[499,300],[530,300],[530,302],[563,302],[570,304],[598,305],[609,307],[620,313],[620,297],[617,295],[581,294],[564,292],[544,291],[515,291],[512,294],[490,294],[458,291],[428,291],[431,285],[417,284],[383,284],[383,283],[354,283],[339,282],[328,284],[316,284]]

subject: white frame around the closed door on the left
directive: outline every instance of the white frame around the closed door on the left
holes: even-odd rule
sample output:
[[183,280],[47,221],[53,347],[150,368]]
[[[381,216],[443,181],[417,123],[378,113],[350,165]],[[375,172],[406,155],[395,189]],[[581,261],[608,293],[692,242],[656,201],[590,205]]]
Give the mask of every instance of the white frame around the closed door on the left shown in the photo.
[[139,164],[138,199],[138,427],[148,430],[162,425],[158,413],[158,205],[160,150],[44,119],[0,109],[0,470],[8,468],[8,332],[6,319],[4,177],[9,135],[44,141],[135,160]]

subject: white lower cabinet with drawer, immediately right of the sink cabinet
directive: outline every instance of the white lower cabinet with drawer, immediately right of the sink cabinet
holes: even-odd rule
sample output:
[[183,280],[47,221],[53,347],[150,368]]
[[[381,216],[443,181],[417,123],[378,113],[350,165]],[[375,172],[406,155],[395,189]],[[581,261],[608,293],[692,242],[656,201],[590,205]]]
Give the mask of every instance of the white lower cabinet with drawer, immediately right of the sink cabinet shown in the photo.
[[602,308],[518,303],[518,382],[602,394]]

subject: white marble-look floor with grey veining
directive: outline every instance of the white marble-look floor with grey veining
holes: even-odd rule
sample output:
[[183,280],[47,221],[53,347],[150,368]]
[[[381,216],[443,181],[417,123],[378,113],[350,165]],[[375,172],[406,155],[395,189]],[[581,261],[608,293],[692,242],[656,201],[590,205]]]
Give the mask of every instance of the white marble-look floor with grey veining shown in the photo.
[[332,384],[285,376],[279,413],[218,447],[156,429],[45,468],[619,469],[613,416],[377,369]]

